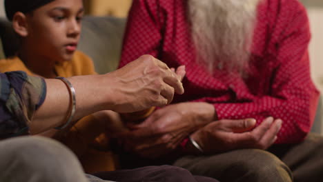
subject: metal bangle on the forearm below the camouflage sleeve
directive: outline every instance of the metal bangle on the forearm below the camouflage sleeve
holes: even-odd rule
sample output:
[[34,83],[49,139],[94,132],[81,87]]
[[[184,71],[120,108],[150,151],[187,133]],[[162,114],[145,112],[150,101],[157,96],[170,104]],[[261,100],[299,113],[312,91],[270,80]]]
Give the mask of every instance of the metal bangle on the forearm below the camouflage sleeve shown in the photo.
[[64,78],[64,77],[56,77],[55,79],[60,79],[61,81],[63,81],[63,83],[65,83],[65,85],[68,87],[68,92],[70,94],[70,101],[71,101],[71,105],[70,105],[70,110],[69,110],[69,114],[66,117],[67,121],[64,125],[56,127],[56,130],[63,130],[66,127],[68,127],[68,125],[70,125],[70,122],[72,121],[75,111],[76,111],[76,96],[75,96],[75,89],[72,85],[72,83],[70,83],[70,81],[68,81],[68,79]]

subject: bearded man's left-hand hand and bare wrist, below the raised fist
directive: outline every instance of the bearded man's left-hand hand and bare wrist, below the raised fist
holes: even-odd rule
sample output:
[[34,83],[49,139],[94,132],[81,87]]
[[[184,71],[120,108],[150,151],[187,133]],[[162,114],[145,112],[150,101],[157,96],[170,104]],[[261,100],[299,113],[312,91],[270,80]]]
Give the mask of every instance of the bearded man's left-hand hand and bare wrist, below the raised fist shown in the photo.
[[155,158],[177,148],[191,132],[214,121],[214,106],[208,103],[177,103],[153,112],[142,123],[128,123],[124,136],[127,150]]

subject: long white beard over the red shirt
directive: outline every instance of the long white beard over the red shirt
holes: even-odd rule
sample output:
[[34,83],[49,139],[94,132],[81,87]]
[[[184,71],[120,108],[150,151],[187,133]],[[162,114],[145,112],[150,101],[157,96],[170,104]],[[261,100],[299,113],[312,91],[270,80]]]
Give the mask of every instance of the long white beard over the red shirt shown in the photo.
[[261,0],[188,0],[197,61],[216,69],[248,69],[257,5]]

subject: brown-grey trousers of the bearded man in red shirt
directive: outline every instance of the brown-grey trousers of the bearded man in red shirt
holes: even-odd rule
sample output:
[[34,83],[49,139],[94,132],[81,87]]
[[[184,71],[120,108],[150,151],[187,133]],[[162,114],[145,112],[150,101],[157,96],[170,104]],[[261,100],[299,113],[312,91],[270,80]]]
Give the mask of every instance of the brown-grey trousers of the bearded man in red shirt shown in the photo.
[[219,181],[323,181],[323,136],[264,150],[234,150],[211,156],[183,156],[174,165]]

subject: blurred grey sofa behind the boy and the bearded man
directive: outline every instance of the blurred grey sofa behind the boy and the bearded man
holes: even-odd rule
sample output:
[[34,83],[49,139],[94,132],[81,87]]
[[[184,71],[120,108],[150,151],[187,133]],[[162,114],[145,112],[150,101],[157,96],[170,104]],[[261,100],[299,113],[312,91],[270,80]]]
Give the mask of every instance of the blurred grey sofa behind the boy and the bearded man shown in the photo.
[[[82,22],[79,50],[88,54],[95,63],[99,74],[117,68],[120,59],[122,38],[126,19],[116,17],[84,17]],[[17,50],[17,37],[10,23],[0,18],[0,59],[8,57]],[[2,45],[1,45],[2,42]],[[317,107],[312,132],[322,133],[322,99]]]

